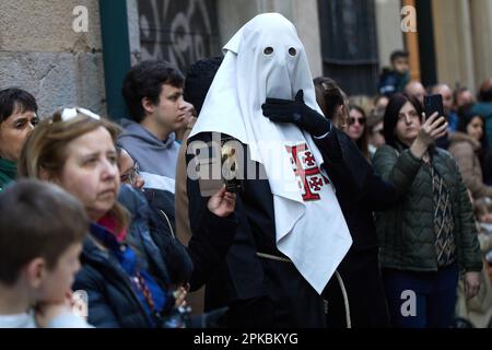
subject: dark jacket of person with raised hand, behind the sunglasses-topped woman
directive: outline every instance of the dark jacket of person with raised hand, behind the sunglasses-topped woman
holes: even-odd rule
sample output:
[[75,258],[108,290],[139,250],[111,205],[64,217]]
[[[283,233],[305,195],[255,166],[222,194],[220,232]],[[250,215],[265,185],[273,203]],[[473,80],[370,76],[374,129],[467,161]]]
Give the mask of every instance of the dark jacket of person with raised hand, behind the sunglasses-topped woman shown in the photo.
[[171,285],[189,282],[191,291],[201,288],[223,261],[234,238],[235,217],[219,218],[207,209],[198,219],[197,234],[188,247],[184,246],[174,234],[174,195],[169,191],[145,189],[142,195],[122,186],[118,199],[132,215],[130,232],[149,232],[163,257]]

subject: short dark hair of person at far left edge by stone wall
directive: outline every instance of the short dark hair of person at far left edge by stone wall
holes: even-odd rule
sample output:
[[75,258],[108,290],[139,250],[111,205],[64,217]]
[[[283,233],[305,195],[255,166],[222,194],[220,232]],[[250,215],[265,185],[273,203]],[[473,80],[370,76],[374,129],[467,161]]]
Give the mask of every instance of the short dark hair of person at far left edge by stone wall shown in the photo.
[[36,98],[32,94],[17,88],[0,90],[0,122],[13,114],[24,112],[37,113]]

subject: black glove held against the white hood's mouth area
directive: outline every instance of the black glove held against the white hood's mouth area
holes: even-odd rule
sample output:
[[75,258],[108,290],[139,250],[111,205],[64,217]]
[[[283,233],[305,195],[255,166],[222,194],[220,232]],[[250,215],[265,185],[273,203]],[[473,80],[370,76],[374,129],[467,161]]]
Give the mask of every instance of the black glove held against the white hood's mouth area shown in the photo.
[[331,130],[331,122],[304,103],[304,92],[300,90],[294,101],[267,98],[261,105],[263,116],[273,122],[293,122],[315,137]]

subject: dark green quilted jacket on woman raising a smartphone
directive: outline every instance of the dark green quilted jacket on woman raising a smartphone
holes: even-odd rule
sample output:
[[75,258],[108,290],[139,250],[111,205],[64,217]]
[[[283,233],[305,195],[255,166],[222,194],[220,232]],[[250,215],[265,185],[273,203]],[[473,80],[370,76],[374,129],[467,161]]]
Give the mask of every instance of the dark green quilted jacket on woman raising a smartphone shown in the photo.
[[[458,165],[448,152],[437,148],[432,152],[432,164],[450,190],[458,264],[466,271],[480,271],[477,226]],[[429,170],[409,150],[397,151],[389,145],[377,150],[373,166],[385,180],[394,184],[398,194],[393,210],[376,214],[382,266],[436,271],[434,200]]]

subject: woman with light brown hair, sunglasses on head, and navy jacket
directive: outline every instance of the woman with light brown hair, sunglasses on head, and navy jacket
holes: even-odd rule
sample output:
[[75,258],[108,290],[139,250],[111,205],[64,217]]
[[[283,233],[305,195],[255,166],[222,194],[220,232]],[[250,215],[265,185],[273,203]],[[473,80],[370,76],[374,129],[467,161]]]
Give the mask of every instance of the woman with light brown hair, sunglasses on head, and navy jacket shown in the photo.
[[[116,133],[116,127],[97,115],[66,108],[40,122],[30,136],[19,173],[59,185],[85,208],[90,235],[73,287],[87,292],[89,323],[96,327],[163,327],[174,306],[183,304],[186,292],[169,290],[163,253],[149,232],[127,230],[128,212],[117,201]],[[232,212],[234,198],[225,190],[212,199],[210,215]]]

